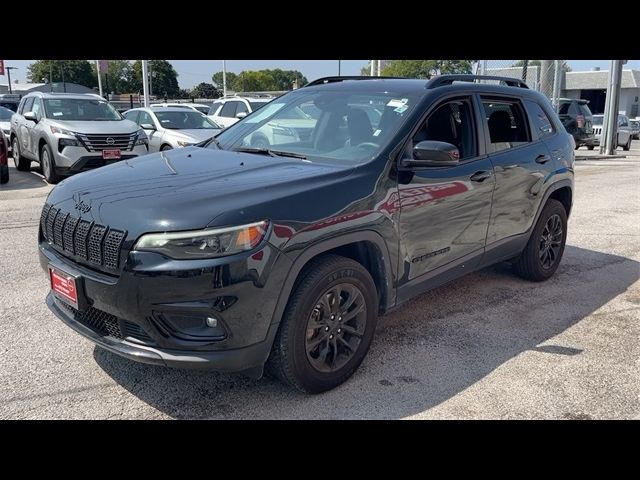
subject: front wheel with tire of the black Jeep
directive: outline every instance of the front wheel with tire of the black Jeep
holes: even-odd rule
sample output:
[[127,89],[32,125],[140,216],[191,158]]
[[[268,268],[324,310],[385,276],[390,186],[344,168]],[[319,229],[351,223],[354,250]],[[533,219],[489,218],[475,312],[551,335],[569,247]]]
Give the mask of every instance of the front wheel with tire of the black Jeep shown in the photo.
[[[338,305],[331,300],[332,290],[340,292]],[[340,305],[347,309],[341,311]],[[289,298],[267,373],[306,393],[337,387],[353,375],[369,351],[377,312],[376,286],[362,265],[337,255],[317,257],[305,267]],[[350,318],[342,321],[338,315]]]

